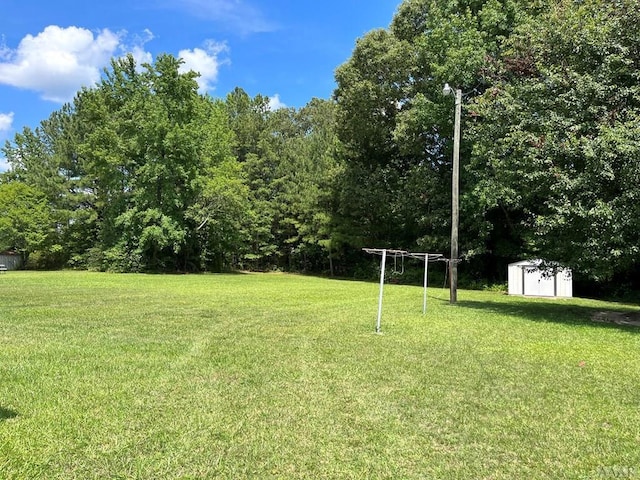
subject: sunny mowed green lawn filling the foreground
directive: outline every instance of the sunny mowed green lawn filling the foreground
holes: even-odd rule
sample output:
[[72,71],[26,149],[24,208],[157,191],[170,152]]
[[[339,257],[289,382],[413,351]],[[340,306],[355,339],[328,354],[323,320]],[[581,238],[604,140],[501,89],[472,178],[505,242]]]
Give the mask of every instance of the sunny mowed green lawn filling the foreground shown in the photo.
[[634,307],[280,274],[0,275],[2,479],[640,477]]

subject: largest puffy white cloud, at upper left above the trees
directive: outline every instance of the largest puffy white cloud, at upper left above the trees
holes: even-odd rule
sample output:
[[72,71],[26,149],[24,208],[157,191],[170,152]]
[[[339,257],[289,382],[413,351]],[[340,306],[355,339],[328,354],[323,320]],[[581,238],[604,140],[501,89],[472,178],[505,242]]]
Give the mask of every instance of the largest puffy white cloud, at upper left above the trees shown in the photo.
[[137,61],[152,60],[144,44],[153,39],[133,37],[124,43],[126,32],[109,29],[93,32],[80,27],[50,25],[37,35],[27,35],[13,50],[0,46],[0,84],[40,92],[42,98],[66,102],[83,86],[91,87],[100,80],[102,69],[116,52],[131,51]]

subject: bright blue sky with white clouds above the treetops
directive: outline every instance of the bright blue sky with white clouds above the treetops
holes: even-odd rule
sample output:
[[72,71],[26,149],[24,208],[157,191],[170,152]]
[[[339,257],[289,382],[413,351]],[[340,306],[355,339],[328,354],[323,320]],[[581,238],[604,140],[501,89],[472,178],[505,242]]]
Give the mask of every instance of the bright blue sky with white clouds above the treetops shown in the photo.
[[[202,74],[301,107],[329,98],[356,40],[386,28],[401,0],[0,0],[0,142],[36,127],[94,84],[112,57],[160,53]],[[1,157],[1,155],[0,155]],[[0,171],[6,164],[0,158]]]

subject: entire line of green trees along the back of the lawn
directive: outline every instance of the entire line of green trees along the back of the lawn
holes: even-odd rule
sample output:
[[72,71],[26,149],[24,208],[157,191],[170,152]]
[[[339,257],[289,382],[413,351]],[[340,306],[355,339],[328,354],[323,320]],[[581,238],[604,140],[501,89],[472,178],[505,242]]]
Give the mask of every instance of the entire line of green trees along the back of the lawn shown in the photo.
[[3,149],[0,249],[39,266],[352,275],[364,246],[449,249],[464,92],[461,274],[561,262],[636,281],[638,0],[405,0],[331,99],[198,94],[180,59],[114,59]]

